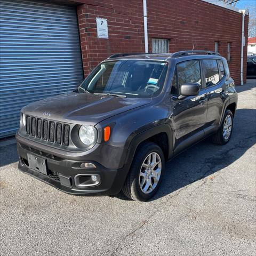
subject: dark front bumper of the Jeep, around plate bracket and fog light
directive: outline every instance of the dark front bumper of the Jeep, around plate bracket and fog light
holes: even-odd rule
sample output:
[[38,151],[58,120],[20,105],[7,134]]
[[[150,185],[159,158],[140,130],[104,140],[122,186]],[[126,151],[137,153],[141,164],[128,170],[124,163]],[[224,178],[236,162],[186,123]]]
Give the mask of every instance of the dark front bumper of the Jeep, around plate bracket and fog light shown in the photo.
[[[126,178],[127,170],[107,169],[101,164],[93,161],[73,161],[63,159],[38,149],[23,145],[18,141],[18,154],[20,157],[19,169],[36,179],[39,179],[61,191],[74,195],[115,195],[121,190]],[[44,158],[46,161],[47,174],[31,170],[28,164],[28,154]],[[81,168],[81,163],[93,163],[96,168]],[[98,185],[88,187],[78,187],[75,185],[77,174],[99,175]]]

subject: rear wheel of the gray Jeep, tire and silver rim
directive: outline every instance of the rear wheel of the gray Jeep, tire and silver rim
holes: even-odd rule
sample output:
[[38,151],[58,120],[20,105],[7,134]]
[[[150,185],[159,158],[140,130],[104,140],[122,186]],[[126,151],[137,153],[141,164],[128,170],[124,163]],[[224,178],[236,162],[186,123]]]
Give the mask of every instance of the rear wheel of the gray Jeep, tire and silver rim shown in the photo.
[[231,138],[233,130],[233,114],[227,109],[219,130],[212,135],[212,142],[217,145],[225,145]]

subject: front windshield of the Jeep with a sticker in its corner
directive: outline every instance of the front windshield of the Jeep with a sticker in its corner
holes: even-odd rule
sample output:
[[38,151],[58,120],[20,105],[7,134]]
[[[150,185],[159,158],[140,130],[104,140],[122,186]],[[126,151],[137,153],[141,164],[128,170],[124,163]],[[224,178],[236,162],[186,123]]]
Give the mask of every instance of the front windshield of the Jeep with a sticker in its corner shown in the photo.
[[118,60],[101,63],[78,87],[78,93],[150,98],[163,88],[167,62]]

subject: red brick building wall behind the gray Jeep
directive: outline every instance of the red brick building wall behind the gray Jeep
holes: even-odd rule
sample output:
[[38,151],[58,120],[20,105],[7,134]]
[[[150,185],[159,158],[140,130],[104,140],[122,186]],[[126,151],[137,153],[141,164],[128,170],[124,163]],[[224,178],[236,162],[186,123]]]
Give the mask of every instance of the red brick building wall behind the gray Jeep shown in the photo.
[[[145,51],[142,0],[77,2],[85,3],[77,7],[85,75],[113,53]],[[201,0],[148,0],[147,12],[149,52],[152,38],[167,38],[170,52],[192,50],[193,45],[195,50],[214,51],[214,42],[219,42],[219,52],[227,58],[231,43],[230,73],[236,85],[240,84],[241,13]],[[97,38],[96,17],[108,19],[109,39]],[[246,28],[247,23],[248,15]],[[247,40],[247,29],[245,36]]]

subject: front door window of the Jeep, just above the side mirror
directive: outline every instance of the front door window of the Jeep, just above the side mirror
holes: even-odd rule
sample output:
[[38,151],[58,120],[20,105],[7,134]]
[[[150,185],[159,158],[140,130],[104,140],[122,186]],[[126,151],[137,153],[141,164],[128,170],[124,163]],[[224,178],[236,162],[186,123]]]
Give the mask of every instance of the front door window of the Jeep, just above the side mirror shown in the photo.
[[198,60],[181,62],[177,65],[178,86],[186,83],[198,83],[201,85],[201,70]]

